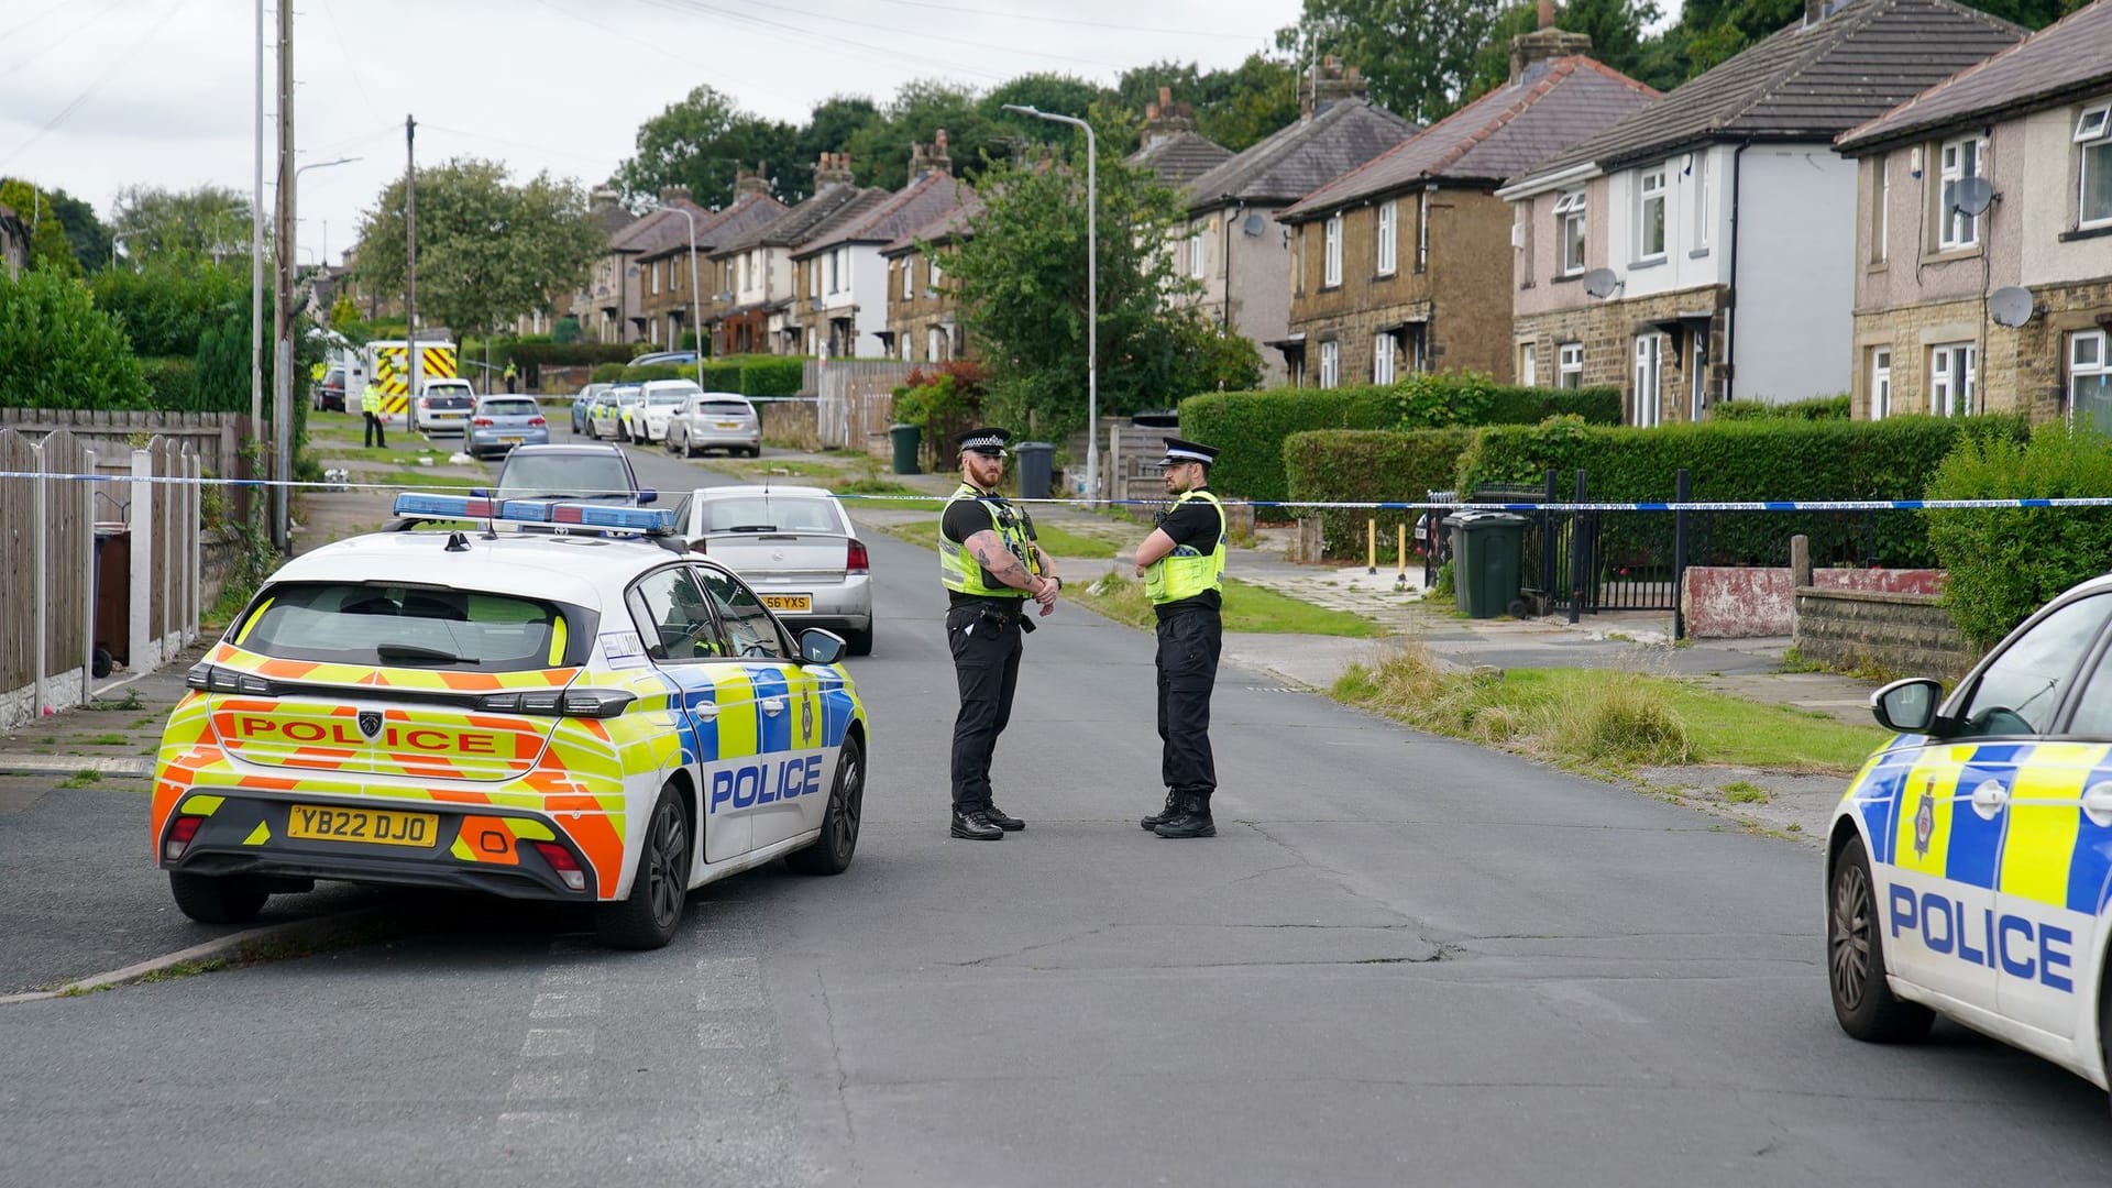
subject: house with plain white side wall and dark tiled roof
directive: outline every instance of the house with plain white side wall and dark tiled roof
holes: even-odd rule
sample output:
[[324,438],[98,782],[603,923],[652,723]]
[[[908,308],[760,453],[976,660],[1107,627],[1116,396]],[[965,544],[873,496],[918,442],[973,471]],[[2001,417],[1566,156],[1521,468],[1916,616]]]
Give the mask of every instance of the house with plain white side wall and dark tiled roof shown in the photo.
[[1833,137],[2021,30],[1949,0],[1823,4],[1497,190],[1519,372],[1622,387],[1628,425],[1848,391],[1854,165]]

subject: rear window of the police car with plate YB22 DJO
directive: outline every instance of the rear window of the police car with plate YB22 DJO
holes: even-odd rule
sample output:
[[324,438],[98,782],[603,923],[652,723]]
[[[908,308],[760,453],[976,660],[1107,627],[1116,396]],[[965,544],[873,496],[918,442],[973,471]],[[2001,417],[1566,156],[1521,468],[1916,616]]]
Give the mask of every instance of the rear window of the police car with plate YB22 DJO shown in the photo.
[[534,598],[380,583],[275,586],[234,643],[317,664],[526,672],[564,660],[564,613]]

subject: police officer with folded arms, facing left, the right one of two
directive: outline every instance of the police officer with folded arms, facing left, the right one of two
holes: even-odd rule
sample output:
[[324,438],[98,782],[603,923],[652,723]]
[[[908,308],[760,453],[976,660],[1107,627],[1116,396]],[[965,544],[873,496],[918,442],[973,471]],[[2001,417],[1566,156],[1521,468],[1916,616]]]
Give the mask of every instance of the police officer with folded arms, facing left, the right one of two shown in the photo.
[[1166,490],[1174,505],[1136,545],[1136,575],[1159,619],[1159,776],[1166,808],[1140,824],[1159,837],[1217,837],[1210,793],[1210,689],[1223,643],[1225,505],[1210,493],[1217,450],[1166,438]]

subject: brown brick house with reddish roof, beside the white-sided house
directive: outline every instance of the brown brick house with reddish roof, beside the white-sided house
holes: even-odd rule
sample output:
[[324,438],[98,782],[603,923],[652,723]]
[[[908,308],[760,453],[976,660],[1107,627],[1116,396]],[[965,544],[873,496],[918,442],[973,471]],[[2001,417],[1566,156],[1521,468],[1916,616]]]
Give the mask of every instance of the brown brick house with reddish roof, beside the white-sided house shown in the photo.
[[1658,99],[1586,49],[1590,38],[1550,25],[1514,38],[1508,85],[1276,216],[1293,237],[1290,338],[1303,340],[1305,383],[1438,368],[1512,383],[1510,205],[1497,186]]

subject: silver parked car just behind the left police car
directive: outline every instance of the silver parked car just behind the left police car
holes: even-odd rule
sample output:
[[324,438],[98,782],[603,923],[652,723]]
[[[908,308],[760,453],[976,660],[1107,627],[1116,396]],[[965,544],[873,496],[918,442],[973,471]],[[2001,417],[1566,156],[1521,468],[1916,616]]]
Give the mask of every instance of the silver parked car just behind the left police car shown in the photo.
[[828,628],[872,651],[872,562],[819,486],[699,486],[676,507],[691,552],[741,575],[792,630]]

